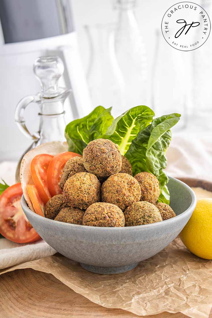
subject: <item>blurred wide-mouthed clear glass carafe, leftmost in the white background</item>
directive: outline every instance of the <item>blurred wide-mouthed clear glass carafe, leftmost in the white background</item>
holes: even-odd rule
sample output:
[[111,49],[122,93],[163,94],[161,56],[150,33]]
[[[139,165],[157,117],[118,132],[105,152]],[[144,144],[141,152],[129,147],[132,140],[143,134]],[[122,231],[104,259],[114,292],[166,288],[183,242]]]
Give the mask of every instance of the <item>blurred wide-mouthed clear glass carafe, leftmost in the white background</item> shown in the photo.
[[90,47],[87,79],[93,107],[112,106],[114,111],[122,103],[111,59],[114,24],[85,25],[84,29]]

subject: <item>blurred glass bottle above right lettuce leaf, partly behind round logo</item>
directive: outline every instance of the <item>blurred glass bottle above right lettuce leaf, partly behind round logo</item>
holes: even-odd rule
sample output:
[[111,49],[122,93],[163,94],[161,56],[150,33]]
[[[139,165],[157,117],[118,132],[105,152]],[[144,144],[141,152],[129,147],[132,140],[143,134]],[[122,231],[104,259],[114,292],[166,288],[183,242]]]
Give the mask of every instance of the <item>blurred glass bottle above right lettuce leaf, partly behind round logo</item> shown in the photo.
[[[156,30],[155,55],[151,74],[151,108],[156,116],[180,113],[182,116],[177,128],[185,128],[188,115],[189,65],[184,52],[171,47]],[[188,82],[188,83],[187,83]]]

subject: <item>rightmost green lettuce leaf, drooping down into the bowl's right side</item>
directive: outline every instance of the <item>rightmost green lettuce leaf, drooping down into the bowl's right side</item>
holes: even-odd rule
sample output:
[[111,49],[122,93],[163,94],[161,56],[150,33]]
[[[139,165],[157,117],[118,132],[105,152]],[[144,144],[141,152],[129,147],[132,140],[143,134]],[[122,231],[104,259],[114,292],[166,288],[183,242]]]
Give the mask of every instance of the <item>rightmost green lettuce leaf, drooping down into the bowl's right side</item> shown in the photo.
[[131,162],[133,175],[147,171],[159,180],[159,202],[169,204],[166,150],[171,142],[172,128],[180,120],[180,114],[169,114],[155,118],[152,124],[141,130],[132,141],[125,156]]

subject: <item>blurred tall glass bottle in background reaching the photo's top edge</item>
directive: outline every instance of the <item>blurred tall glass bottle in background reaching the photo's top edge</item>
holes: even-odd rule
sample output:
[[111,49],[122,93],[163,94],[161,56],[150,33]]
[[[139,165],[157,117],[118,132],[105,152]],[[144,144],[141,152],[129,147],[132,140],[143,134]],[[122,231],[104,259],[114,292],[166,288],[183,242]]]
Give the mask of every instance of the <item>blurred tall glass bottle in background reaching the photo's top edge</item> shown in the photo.
[[114,32],[114,54],[120,70],[120,73],[117,71],[117,80],[124,91],[123,111],[145,105],[147,101],[146,53],[134,14],[135,5],[135,0],[116,1],[118,21]]

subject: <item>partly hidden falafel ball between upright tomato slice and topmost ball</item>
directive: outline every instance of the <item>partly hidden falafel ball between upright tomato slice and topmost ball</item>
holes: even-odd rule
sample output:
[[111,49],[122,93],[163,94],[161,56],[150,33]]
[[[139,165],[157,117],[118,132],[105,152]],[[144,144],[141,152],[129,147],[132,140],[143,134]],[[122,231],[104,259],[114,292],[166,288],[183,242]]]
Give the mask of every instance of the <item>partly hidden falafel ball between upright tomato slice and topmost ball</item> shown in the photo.
[[73,157],[69,159],[64,168],[63,173],[60,178],[60,188],[63,190],[64,184],[66,183],[67,179],[71,176],[74,176],[77,172],[86,172],[85,167],[83,166],[83,161],[81,157]]

